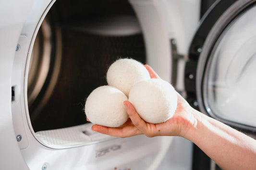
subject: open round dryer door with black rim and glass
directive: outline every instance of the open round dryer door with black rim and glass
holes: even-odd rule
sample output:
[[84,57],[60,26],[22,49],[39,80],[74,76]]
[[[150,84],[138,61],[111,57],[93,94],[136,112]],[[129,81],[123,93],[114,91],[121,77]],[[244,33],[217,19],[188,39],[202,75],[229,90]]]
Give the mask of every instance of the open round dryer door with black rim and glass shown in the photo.
[[[194,37],[185,69],[187,98],[201,112],[256,138],[256,0],[230,3],[205,41],[198,32]],[[202,25],[198,30],[205,33]]]

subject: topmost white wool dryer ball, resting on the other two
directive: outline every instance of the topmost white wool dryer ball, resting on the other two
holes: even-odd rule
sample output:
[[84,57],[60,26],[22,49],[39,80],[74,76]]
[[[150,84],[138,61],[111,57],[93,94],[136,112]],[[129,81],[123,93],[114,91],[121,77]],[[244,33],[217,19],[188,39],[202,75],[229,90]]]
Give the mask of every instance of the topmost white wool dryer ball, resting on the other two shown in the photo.
[[107,72],[107,82],[126,96],[132,86],[141,80],[150,79],[150,75],[143,64],[133,59],[119,59],[110,65]]

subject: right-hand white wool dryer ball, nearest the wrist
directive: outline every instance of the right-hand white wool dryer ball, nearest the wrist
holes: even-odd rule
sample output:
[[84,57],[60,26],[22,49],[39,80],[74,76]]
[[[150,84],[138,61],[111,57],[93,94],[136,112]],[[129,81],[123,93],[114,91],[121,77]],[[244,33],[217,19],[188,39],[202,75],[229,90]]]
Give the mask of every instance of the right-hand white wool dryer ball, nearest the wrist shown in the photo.
[[168,82],[153,78],[136,83],[130,91],[129,101],[142,119],[156,124],[173,116],[177,93]]

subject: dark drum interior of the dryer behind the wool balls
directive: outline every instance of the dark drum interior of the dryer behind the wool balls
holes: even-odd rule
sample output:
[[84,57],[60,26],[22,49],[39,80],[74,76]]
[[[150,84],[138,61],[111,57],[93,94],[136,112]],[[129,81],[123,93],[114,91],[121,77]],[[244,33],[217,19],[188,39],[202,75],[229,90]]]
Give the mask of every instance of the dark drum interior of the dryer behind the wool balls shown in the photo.
[[108,35],[86,29],[122,16],[136,19],[127,0],[55,2],[37,33],[29,65],[27,98],[35,132],[85,124],[85,99],[107,85],[110,64],[126,57],[145,63],[141,32]]

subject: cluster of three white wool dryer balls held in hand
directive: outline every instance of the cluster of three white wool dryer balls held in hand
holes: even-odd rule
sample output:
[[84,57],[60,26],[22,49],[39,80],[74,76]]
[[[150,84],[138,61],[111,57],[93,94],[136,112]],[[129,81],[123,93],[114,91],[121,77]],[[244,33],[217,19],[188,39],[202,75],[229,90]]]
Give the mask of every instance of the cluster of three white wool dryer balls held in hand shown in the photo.
[[149,123],[165,122],[176,110],[174,88],[164,80],[150,79],[144,65],[133,59],[120,59],[111,64],[107,82],[109,85],[96,88],[85,102],[86,117],[94,124],[106,127],[124,124],[128,118],[125,100]]

